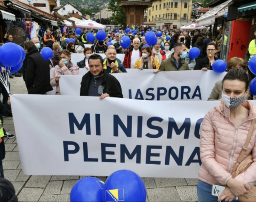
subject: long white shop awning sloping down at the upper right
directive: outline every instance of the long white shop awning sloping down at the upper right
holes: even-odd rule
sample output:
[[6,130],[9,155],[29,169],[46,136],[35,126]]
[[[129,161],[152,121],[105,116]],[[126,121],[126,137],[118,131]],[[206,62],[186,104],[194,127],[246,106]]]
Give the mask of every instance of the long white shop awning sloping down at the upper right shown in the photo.
[[208,26],[211,24],[214,24],[215,22],[215,15],[223,11],[226,7],[228,7],[228,4],[232,2],[232,0],[228,0],[222,4],[219,4],[215,8],[211,8],[208,12],[206,12],[203,16],[201,16],[198,20],[195,21],[195,27],[201,27],[201,26]]

